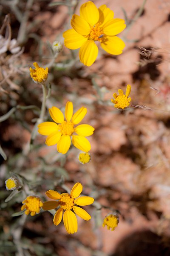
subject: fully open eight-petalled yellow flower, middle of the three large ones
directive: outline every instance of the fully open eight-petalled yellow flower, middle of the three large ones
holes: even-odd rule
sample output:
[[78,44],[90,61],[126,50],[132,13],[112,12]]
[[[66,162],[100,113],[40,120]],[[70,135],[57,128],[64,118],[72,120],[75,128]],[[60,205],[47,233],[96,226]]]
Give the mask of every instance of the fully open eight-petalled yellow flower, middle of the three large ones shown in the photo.
[[[43,122],[38,125],[38,132],[42,135],[48,136],[45,143],[48,146],[57,144],[59,153],[65,154],[72,143],[79,150],[88,152],[91,150],[91,144],[85,137],[94,133],[94,128],[91,125],[78,125],[74,127],[85,117],[87,108],[80,108],[73,115],[73,103],[67,102],[65,106],[65,119],[63,113],[59,108],[49,108],[50,116],[54,122]],[[59,123],[57,125],[57,123]],[[78,135],[73,135],[77,133]]]

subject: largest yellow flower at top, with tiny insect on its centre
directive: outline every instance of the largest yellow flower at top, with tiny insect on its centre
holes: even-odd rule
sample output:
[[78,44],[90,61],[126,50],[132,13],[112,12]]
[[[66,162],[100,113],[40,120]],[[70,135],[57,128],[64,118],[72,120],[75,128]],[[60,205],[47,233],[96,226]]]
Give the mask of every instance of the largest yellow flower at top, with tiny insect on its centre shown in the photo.
[[116,35],[125,29],[125,20],[113,19],[113,16],[113,11],[105,4],[97,9],[91,1],[82,4],[80,16],[72,16],[72,29],[63,33],[64,44],[69,49],[80,48],[79,59],[86,66],[91,66],[97,58],[95,42],[100,42],[101,47],[110,54],[122,53],[125,43]]

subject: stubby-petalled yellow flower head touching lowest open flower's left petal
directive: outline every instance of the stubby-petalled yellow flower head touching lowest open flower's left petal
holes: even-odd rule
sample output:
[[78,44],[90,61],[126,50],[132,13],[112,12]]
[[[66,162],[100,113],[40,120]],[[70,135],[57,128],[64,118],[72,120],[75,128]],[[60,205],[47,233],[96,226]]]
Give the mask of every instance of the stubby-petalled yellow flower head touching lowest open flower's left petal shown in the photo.
[[26,215],[28,215],[30,212],[31,216],[36,215],[36,213],[40,212],[40,208],[43,206],[42,201],[40,198],[36,196],[28,196],[23,202],[23,206],[21,207],[21,211],[26,209],[24,212]]

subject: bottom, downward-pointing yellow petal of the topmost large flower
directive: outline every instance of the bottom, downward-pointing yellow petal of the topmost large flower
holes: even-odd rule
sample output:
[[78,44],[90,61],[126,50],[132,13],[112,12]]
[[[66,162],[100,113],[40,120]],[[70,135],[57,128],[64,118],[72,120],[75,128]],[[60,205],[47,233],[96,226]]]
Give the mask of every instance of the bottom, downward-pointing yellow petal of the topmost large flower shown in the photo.
[[79,50],[79,60],[85,66],[91,66],[97,58],[98,47],[93,40],[86,41]]

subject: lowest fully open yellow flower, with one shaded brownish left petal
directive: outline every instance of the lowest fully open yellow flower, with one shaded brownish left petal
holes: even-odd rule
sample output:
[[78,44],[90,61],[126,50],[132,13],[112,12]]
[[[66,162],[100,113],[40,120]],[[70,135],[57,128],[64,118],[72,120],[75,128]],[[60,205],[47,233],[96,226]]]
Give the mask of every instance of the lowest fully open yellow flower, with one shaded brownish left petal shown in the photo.
[[[48,190],[45,194],[54,200],[58,201],[46,201],[43,204],[42,209],[44,210],[51,210],[55,209],[56,207],[60,206],[57,212],[54,215],[54,225],[58,225],[62,220],[62,213],[63,214],[63,222],[66,231],[68,234],[73,234],[77,232],[77,218],[74,213],[76,213],[80,218],[84,219],[85,221],[89,221],[91,219],[91,215],[88,214],[84,209],[77,207],[75,204],[79,206],[85,206],[89,204],[93,204],[94,198],[89,196],[82,196],[79,195],[82,192],[82,184],[76,183],[73,188],[71,189],[70,194],[62,193],[59,194],[57,191]],[[73,212],[74,211],[74,212]]]

